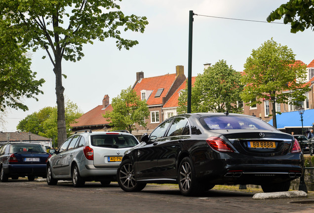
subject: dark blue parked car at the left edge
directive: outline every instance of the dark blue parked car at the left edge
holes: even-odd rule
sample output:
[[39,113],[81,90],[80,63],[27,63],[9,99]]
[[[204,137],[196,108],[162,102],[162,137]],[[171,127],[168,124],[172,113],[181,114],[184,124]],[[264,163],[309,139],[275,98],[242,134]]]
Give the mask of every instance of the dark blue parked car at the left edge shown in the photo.
[[46,162],[51,154],[45,152],[40,144],[8,143],[0,148],[0,180],[18,179],[27,176],[46,178]]

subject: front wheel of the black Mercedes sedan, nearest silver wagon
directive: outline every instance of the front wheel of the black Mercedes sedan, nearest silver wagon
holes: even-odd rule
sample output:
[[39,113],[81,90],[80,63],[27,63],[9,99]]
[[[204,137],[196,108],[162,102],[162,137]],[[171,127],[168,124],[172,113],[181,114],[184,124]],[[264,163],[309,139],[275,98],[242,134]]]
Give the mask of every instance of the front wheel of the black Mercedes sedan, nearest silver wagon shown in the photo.
[[146,183],[138,183],[134,178],[132,162],[127,159],[121,162],[117,171],[117,180],[120,188],[126,192],[141,191]]

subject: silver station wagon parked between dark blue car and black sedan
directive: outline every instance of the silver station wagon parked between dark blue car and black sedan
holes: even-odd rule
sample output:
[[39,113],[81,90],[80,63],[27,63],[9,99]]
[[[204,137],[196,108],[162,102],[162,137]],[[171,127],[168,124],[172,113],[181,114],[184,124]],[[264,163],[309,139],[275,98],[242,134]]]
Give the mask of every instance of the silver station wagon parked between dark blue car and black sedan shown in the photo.
[[123,153],[138,143],[129,133],[78,131],[58,150],[49,150],[53,155],[47,162],[47,183],[72,180],[79,187],[95,180],[108,185],[116,180]]

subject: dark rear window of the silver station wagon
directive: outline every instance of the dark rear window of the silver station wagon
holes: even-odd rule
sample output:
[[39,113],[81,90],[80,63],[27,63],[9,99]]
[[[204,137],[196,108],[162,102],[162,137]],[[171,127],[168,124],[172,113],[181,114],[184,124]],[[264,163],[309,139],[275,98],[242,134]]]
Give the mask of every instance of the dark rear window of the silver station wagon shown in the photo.
[[137,140],[129,135],[93,135],[90,138],[93,146],[126,148],[138,144]]

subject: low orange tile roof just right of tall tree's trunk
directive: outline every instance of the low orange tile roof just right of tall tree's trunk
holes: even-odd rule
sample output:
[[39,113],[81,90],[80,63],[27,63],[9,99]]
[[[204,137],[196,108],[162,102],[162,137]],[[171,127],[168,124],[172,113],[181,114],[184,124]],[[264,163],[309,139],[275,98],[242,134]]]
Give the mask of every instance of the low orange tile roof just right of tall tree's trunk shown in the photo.
[[109,105],[105,109],[102,108],[102,105],[96,106],[92,110],[83,114],[79,119],[77,119],[76,121],[78,121],[78,123],[71,124],[71,126],[79,127],[109,124],[110,122],[107,121],[106,118],[102,116],[102,114],[105,114],[106,111],[112,111],[113,107]]

